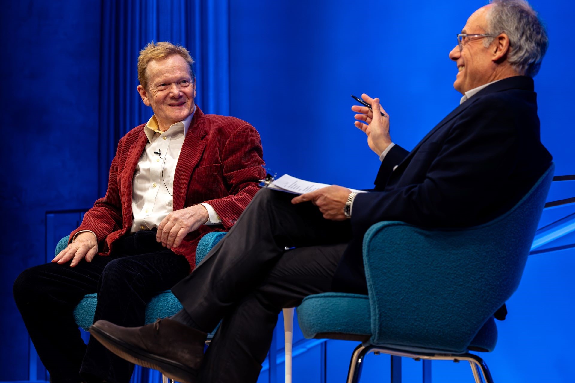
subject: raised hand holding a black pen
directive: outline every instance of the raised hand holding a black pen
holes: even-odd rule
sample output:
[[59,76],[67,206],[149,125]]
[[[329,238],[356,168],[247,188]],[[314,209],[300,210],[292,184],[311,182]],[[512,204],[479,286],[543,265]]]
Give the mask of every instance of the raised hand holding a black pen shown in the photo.
[[[378,156],[391,145],[392,139],[389,135],[389,113],[379,105],[378,98],[371,98],[365,93],[361,98],[371,105],[371,110],[367,106],[354,105],[351,110],[357,112],[355,115],[355,127],[361,129],[367,135],[367,145]],[[387,116],[383,117],[381,113]]]

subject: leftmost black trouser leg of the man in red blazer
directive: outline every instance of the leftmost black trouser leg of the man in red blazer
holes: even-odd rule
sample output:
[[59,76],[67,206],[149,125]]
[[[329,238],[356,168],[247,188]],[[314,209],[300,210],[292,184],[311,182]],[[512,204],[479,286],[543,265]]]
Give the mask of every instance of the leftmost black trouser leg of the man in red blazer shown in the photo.
[[14,282],[14,300],[52,382],[78,383],[86,345],[74,322],[74,308],[89,293],[110,257],[94,257],[74,268],[44,264],[24,270]]

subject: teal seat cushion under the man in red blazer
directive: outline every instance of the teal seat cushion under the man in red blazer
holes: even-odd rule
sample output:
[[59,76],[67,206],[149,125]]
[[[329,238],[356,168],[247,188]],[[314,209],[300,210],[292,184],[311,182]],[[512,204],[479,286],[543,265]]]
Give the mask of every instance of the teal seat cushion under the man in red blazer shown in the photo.
[[[74,320],[79,327],[87,330],[94,323],[97,295],[88,294],[74,309]],[[145,309],[145,324],[154,323],[158,318],[172,316],[182,310],[182,304],[167,290],[152,297]]]

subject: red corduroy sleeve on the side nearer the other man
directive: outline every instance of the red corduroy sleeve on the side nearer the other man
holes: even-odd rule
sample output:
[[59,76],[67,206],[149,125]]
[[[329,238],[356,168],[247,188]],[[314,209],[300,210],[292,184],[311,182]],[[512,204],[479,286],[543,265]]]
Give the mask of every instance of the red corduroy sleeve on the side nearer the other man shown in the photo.
[[225,229],[236,223],[258,192],[259,180],[266,177],[263,164],[258,131],[249,124],[240,126],[228,138],[222,154],[223,176],[230,187],[229,195],[204,201],[214,208]]

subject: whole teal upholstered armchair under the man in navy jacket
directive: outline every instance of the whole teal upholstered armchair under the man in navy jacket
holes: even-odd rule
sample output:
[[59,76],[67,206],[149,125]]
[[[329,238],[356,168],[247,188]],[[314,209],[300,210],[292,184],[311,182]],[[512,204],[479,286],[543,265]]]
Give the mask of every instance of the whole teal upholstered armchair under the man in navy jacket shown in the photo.
[[519,285],[553,170],[552,164],[515,207],[481,226],[371,226],[363,239],[369,295],[306,297],[297,308],[304,336],[362,342],[352,355],[348,383],[359,380],[370,352],[469,361],[476,382],[482,375],[491,383],[486,363],[469,351],[496,345],[493,314]]

